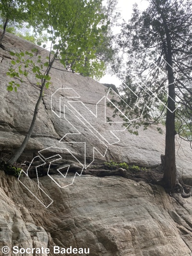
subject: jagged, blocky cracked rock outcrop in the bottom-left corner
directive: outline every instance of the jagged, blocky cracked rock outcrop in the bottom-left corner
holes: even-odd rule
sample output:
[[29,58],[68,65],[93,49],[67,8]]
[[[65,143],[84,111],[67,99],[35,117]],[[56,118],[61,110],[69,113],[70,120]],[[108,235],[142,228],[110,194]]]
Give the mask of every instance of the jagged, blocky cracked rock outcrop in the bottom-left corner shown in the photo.
[[[15,178],[13,178],[14,181]],[[21,189],[16,191],[18,187],[14,187],[11,191],[7,183],[6,176],[0,173],[0,255],[2,255],[2,247],[18,246],[20,248],[37,248],[48,246],[48,233],[35,224],[29,211],[23,204],[13,197],[18,198]],[[13,194],[15,194],[13,196]],[[13,196],[13,197],[12,197]],[[19,199],[19,198],[18,198]],[[30,254],[32,255],[32,254]]]

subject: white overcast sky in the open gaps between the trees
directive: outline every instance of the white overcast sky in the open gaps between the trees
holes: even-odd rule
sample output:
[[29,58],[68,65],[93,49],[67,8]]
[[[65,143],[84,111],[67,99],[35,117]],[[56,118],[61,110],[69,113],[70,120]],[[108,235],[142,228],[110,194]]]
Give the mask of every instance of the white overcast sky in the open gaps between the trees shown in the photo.
[[[144,10],[148,6],[146,0],[119,0],[117,10],[121,13],[121,17],[124,20],[128,21],[131,18],[132,5],[134,3],[138,4],[140,10]],[[117,31],[117,29],[114,28],[114,32],[115,31]],[[120,80],[115,75],[111,76],[110,74],[106,74],[99,82],[104,84],[114,84],[116,86],[120,85]]]

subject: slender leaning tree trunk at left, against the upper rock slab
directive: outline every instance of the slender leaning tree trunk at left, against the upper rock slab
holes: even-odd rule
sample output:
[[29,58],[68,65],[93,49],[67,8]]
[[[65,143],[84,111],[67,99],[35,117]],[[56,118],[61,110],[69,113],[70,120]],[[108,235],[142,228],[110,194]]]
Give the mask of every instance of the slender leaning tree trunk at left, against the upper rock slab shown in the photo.
[[[54,58],[52,59],[52,61],[50,62],[50,65],[48,67],[48,70],[47,70],[47,73],[46,75],[49,74],[50,70],[51,70],[51,67],[53,65],[53,62],[55,61],[55,58],[56,58],[57,54],[55,54]],[[18,150],[15,152],[15,154],[12,156],[12,158],[10,160],[8,160],[6,162],[7,165],[10,165],[12,166],[16,161],[17,159],[21,156],[21,154],[23,153],[24,151],[24,148],[26,147],[30,137],[31,137],[31,134],[33,133],[33,130],[34,130],[34,127],[35,127],[35,123],[36,123],[36,117],[37,117],[37,114],[38,114],[38,110],[39,110],[39,105],[41,103],[41,100],[43,98],[43,91],[44,91],[44,87],[45,87],[45,84],[46,84],[46,79],[43,80],[43,83],[42,83],[42,86],[41,86],[41,90],[40,90],[40,95],[39,95],[39,98],[36,102],[36,107],[35,107],[35,110],[34,110],[34,115],[33,115],[33,120],[31,122],[31,125],[30,125],[30,128],[29,128],[29,131],[28,133],[25,135],[25,138],[24,138],[24,141],[22,143],[22,145],[18,148]]]

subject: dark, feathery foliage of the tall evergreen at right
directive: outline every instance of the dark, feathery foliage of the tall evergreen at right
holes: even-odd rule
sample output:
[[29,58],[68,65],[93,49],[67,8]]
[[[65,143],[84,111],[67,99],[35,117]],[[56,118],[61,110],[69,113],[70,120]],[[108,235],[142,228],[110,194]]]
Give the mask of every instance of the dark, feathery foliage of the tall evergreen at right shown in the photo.
[[[121,24],[121,33],[116,38],[127,64],[126,71],[124,63],[122,71],[118,70],[124,77],[121,86],[124,101],[116,105],[129,119],[142,116],[128,127],[131,133],[140,126],[145,129],[150,124],[165,124],[168,84],[171,84],[168,70],[172,66],[176,107],[179,106],[175,111],[175,130],[189,139],[192,138],[192,77],[189,75],[192,4],[188,0],[148,0],[148,3],[144,12],[136,4],[133,6],[132,18]],[[157,131],[162,133],[159,127]]]

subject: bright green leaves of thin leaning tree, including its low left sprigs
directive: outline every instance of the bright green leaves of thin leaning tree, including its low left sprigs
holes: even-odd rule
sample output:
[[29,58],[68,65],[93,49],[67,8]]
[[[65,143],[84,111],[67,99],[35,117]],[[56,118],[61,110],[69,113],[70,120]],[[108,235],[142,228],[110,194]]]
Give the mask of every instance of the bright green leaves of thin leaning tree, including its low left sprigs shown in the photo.
[[[54,55],[52,60],[59,60],[65,68],[84,76],[100,79],[105,71],[103,60],[96,56],[97,47],[105,42],[105,33],[108,29],[109,21],[107,15],[102,12],[101,0],[46,0],[25,1],[24,12],[28,13],[28,24],[32,25],[35,33],[40,33],[39,37],[31,35],[29,31],[25,33],[14,31],[14,34],[24,39],[41,45],[46,42],[46,37],[42,35],[43,30],[47,30],[48,40],[51,44],[51,53]],[[89,15],[87,15],[89,13]],[[57,17],[57,19],[56,19]],[[12,31],[13,32],[13,31]],[[43,45],[46,48],[46,44]],[[34,73],[37,84],[45,82],[46,88],[50,84],[50,77],[46,76],[45,70],[49,70],[51,63],[50,56],[48,61],[38,61],[35,63],[31,53],[10,53],[15,57],[12,66],[7,73],[11,78],[7,89],[17,91],[19,85],[24,81],[23,76],[27,76],[31,69]],[[26,55],[29,58],[26,58]],[[13,67],[14,66],[14,67]],[[44,68],[47,69],[44,69]],[[42,72],[44,70],[44,72]]]

